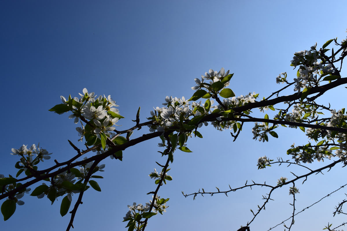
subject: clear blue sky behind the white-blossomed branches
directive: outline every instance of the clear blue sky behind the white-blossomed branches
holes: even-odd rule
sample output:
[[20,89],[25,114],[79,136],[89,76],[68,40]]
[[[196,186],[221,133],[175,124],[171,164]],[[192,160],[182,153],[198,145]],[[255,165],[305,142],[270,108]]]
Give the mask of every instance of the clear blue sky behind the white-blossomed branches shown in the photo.
[[[331,2],[331,4],[330,4]],[[86,87],[95,94],[111,95],[125,117],[122,129],[140,119],[147,121],[153,107],[161,106],[168,95],[190,98],[194,78],[210,68],[224,67],[235,73],[230,88],[236,95],[255,91],[261,98],[278,90],[276,76],[288,72],[295,77],[290,60],[293,53],[315,42],[346,37],[346,1],[1,1],[0,2],[0,85],[2,86],[3,150],[0,174],[16,174],[18,161],[11,148],[23,144],[53,152],[53,160],[66,161],[75,155],[67,140],[76,145],[76,124],[68,114],[48,109],[60,103],[60,95],[78,96]],[[343,76],[345,72],[342,72]],[[345,107],[343,86],[322,97],[332,108]],[[288,90],[284,94],[292,94]],[[261,113],[260,117],[264,115]],[[269,113],[270,114],[270,113]],[[180,153],[170,165],[174,178],[160,188],[159,195],[170,198],[167,213],[150,219],[146,230],[237,230],[252,219],[251,212],[261,204],[263,188],[213,197],[184,198],[181,191],[193,193],[204,188],[214,191],[244,185],[246,180],[276,184],[290,171],[304,173],[297,166],[273,166],[257,170],[260,156],[288,158],[293,142],[306,144],[300,130],[279,129],[278,139],[269,143],[252,140],[253,124],[244,127],[237,141],[228,131],[201,129],[203,139],[189,139],[193,153]],[[133,137],[148,133],[147,128]],[[122,218],[133,202],[148,202],[146,193],[155,189],[148,177],[155,161],[163,163],[157,151],[159,138],[124,151],[123,161],[105,159],[102,192],[84,194],[75,230],[125,230]],[[83,148],[81,142],[79,148]],[[87,154],[90,157],[91,154]],[[289,158],[288,158],[289,159]],[[312,166],[314,165],[314,166]],[[322,163],[311,164],[319,168]],[[299,185],[297,210],[346,184],[342,172],[332,169],[312,176]],[[32,188],[33,189],[33,188]],[[289,218],[292,197],[288,187],[274,193],[275,201],[252,223],[251,230],[267,230]],[[295,219],[293,230],[321,230],[328,222],[338,225],[346,218],[332,217],[333,208],[344,199],[337,192]],[[4,222],[2,230],[63,230],[69,216],[61,218],[60,201],[26,195],[25,205]],[[73,197],[73,202],[77,196]],[[284,229],[282,226],[278,230]],[[275,229],[277,230],[277,229]]]

